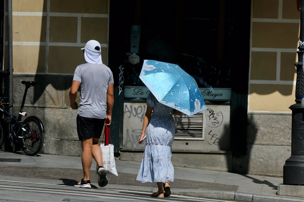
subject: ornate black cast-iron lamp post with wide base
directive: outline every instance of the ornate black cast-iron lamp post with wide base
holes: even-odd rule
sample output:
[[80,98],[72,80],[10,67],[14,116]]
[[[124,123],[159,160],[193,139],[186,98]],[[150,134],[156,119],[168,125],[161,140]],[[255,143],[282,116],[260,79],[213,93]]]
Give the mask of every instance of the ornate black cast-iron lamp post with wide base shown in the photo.
[[291,134],[291,156],[285,161],[283,167],[283,184],[304,185],[304,121],[302,118],[301,99],[304,95],[304,1],[299,1],[301,12],[300,18],[300,45],[298,53],[297,80],[295,87],[295,104],[289,108],[292,110],[292,134]]

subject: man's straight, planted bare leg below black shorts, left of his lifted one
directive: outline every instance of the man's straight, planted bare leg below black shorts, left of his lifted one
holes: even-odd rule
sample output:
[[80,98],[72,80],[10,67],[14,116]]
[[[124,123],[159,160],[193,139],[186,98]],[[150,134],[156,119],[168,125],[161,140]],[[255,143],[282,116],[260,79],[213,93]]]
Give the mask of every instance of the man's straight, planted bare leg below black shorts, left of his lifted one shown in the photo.
[[83,180],[89,180],[90,168],[92,165],[92,138],[81,141],[81,144],[82,144],[81,163],[83,169]]

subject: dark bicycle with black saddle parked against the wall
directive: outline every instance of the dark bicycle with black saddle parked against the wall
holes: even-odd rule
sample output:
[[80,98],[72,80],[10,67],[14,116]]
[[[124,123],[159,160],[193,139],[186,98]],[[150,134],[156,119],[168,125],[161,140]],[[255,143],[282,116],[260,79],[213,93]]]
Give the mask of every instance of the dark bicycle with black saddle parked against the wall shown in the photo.
[[[9,71],[0,70],[0,148],[4,139],[8,138],[10,142],[15,143],[15,151],[16,147],[19,147],[19,150],[21,147],[25,154],[33,156],[37,154],[43,146],[44,126],[42,121],[36,116],[27,117],[24,121],[21,121],[21,119],[22,116],[27,116],[27,113],[23,112],[27,90],[31,86],[36,85],[37,82],[21,81],[21,83],[25,85],[25,90],[19,116],[16,118],[4,109],[5,104],[14,103],[5,103],[4,101],[7,98],[3,97],[3,91],[5,89],[3,87],[3,78],[9,74]],[[3,115],[4,118],[2,118]],[[12,134],[11,138],[8,133]]]

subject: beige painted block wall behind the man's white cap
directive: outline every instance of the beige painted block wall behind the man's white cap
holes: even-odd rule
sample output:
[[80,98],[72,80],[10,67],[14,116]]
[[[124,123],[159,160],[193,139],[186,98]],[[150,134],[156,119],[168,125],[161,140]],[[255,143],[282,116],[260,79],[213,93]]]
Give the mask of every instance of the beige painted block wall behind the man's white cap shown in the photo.
[[[12,0],[14,73],[73,74],[85,63],[80,48],[91,39],[101,43],[107,65],[108,5],[108,0]],[[7,48],[7,33],[5,41]]]

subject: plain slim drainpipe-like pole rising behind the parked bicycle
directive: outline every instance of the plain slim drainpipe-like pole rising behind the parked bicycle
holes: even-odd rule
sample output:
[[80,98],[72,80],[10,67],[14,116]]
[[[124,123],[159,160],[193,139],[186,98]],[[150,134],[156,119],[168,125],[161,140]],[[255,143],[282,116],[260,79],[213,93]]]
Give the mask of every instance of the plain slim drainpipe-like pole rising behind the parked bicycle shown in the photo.
[[[13,103],[13,28],[12,28],[12,0],[7,4],[8,18],[8,51],[9,51],[9,103]],[[9,104],[9,113],[13,114],[13,104]]]

